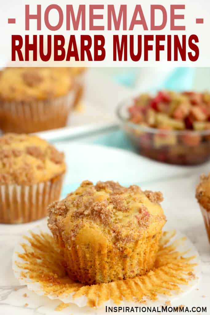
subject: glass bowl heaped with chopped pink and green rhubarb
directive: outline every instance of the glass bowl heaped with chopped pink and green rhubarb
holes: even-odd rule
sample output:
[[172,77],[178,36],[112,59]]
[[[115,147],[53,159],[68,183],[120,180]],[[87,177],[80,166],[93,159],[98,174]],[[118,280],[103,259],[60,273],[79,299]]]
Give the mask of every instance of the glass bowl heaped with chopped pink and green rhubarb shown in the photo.
[[210,159],[210,92],[144,93],[121,102],[117,116],[143,156],[180,165]]

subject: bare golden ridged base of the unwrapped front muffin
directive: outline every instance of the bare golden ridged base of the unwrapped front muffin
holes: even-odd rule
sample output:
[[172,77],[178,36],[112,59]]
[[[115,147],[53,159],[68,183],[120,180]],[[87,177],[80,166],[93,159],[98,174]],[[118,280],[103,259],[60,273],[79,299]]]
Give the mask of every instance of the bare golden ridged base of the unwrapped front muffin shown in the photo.
[[107,283],[143,275],[152,269],[159,249],[162,232],[128,243],[124,250],[102,249],[73,243],[71,250],[65,247],[61,237],[65,268],[69,276],[83,284]]

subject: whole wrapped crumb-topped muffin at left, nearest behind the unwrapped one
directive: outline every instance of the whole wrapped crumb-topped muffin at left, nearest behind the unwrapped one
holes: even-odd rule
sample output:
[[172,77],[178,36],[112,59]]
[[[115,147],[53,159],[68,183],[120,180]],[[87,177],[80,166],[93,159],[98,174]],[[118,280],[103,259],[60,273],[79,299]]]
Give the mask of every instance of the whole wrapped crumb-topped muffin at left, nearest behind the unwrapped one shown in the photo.
[[43,218],[60,197],[64,154],[32,135],[0,138],[0,223]]

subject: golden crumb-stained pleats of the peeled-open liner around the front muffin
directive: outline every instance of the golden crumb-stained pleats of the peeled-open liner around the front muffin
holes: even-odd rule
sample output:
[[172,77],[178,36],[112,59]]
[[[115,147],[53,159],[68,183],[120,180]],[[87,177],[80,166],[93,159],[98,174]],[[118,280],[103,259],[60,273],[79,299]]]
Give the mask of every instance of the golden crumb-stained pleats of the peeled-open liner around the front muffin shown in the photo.
[[[181,293],[180,285],[189,285],[196,278],[195,263],[191,261],[196,256],[184,255],[187,252],[177,251],[177,247],[184,243],[185,238],[177,239],[168,244],[176,232],[163,232],[160,248],[153,269],[145,275],[128,280],[114,281],[104,284],[83,285],[75,282],[66,275],[60,249],[52,235],[30,232],[24,236],[29,242],[21,243],[23,251],[16,253],[18,260],[15,265],[20,268],[21,284],[34,283],[31,289],[40,295],[54,299],[63,299],[72,295],[76,300],[85,296],[87,306],[99,307],[110,299],[119,305],[123,300],[140,302],[146,305],[147,300],[157,301],[158,294],[171,296]],[[21,259],[21,261],[19,260]],[[37,283],[39,288],[37,288]],[[62,310],[72,304],[61,303],[56,310]],[[71,313],[71,309],[70,309]]]

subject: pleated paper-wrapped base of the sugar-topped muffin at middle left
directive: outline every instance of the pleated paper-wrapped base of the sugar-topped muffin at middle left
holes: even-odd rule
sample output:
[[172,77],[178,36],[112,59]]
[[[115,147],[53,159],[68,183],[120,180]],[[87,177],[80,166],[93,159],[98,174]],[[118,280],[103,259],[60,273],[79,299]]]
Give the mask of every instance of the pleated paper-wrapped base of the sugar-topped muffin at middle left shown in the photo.
[[48,215],[48,204],[60,198],[64,174],[31,186],[0,185],[0,223],[26,223]]

